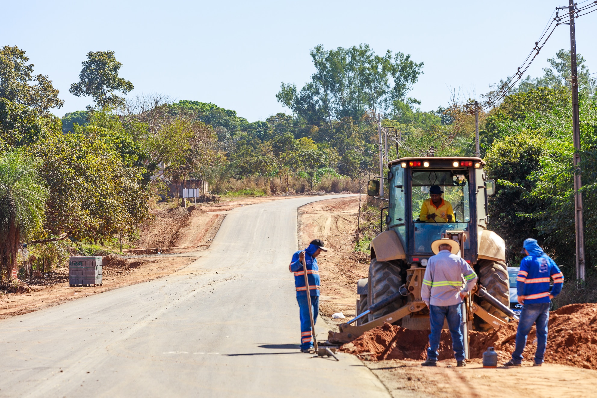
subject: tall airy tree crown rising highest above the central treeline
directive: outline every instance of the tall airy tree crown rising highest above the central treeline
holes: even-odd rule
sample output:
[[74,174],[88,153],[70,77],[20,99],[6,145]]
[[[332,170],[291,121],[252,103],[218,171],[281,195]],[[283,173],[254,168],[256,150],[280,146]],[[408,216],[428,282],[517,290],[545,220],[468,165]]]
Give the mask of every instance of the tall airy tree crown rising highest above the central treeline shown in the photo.
[[335,50],[318,45],[310,55],[315,66],[311,81],[300,91],[283,82],[276,98],[299,118],[325,121],[330,129],[333,119],[358,120],[369,109],[386,112],[395,101],[407,101],[423,68],[410,54],[388,50],[376,55],[367,44]]

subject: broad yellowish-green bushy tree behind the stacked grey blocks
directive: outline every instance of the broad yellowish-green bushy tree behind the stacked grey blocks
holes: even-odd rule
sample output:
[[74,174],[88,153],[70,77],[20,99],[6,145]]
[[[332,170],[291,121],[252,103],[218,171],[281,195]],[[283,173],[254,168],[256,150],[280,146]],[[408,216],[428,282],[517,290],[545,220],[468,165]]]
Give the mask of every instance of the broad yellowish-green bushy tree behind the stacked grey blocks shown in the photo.
[[114,234],[133,235],[150,217],[143,169],[127,167],[110,143],[88,135],[50,134],[30,147],[44,161],[48,186],[47,220],[35,242],[67,237],[99,243]]

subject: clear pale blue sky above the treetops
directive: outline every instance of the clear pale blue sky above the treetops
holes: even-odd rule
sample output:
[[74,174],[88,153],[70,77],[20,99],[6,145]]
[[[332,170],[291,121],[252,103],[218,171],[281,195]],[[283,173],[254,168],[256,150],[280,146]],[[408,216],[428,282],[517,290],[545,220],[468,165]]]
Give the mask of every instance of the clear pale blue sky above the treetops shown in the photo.
[[[290,113],[275,95],[281,82],[309,81],[310,49],[361,43],[423,61],[409,96],[433,110],[453,91],[479,98],[513,75],[558,5],[567,2],[0,0],[0,45],[19,46],[36,74],[50,76],[64,100],[57,116],[91,103],[68,91],[89,51],[115,51],[120,76],[135,87],[127,98],[212,102],[253,122]],[[576,35],[578,53],[597,72],[597,13],[576,20]],[[528,74],[542,76],[561,48],[570,49],[568,26],[557,27]]]

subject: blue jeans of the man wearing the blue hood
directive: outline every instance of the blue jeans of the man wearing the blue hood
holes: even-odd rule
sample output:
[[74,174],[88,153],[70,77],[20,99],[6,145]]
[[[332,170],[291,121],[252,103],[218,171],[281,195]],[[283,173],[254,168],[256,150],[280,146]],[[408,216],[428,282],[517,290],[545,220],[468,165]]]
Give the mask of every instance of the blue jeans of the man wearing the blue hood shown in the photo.
[[521,320],[518,321],[516,330],[516,349],[512,353],[514,363],[522,362],[522,351],[527,345],[527,335],[533,325],[537,326],[535,363],[543,363],[547,345],[547,323],[549,323],[549,303],[533,303],[522,306]]

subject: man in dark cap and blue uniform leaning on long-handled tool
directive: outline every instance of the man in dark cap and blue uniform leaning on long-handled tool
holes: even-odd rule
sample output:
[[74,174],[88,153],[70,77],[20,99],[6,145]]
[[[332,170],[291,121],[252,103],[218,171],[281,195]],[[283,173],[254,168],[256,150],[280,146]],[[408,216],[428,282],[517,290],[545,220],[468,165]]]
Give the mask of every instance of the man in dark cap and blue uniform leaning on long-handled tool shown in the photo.
[[313,324],[315,324],[317,314],[319,313],[319,267],[317,266],[316,258],[322,251],[328,251],[324,248],[324,242],[321,239],[313,239],[309,243],[309,247],[293,254],[293,260],[288,267],[294,273],[294,286],[297,290],[298,311],[300,315],[300,350],[303,353],[313,352],[307,286],[304,283],[303,260],[307,264],[307,278],[309,280],[308,294],[311,297]]

